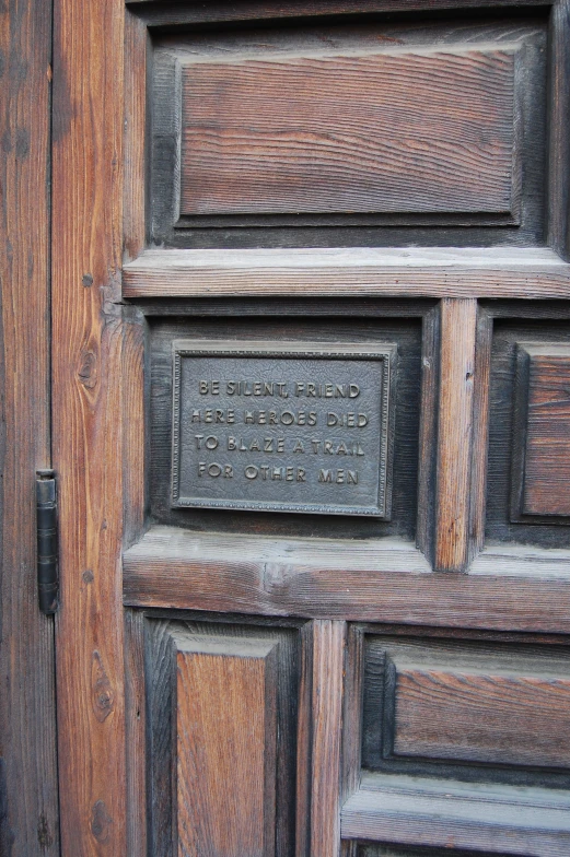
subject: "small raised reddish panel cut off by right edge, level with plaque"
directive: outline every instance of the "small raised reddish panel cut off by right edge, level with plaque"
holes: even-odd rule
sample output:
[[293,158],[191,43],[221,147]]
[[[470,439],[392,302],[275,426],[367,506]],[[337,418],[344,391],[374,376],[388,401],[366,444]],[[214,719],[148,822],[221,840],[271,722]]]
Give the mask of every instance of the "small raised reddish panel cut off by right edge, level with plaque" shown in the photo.
[[512,512],[570,516],[570,347],[520,343]]

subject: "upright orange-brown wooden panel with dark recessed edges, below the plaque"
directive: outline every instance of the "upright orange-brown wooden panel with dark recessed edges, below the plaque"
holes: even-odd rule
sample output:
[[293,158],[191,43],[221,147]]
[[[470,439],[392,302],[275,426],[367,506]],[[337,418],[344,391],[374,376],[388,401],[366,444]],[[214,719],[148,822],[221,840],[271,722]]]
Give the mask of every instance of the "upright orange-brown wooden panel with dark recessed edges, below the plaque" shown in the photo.
[[[283,623],[271,624],[258,617],[247,623],[222,615],[210,621],[190,621],[188,613],[185,618],[143,620],[149,848],[156,857],[173,857],[176,842],[182,841],[184,854],[194,853],[200,843],[199,853],[210,854],[205,837],[211,834],[210,845],[217,845],[217,854],[242,848],[236,837],[245,837],[249,841],[246,853],[264,854],[265,848],[276,857],[291,855],[300,821],[295,818],[295,778],[303,780],[303,793],[310,783],[309,763],[299,770],[295,758],[295,732],[301,728],[298,704],[305,708],[307,740],[311,732],[306,721],[311,678],[306,665],[300,671],[303,653],[307,654],[310,623],[288,622],[283,627]],[[208,664],[205,667],[206,651],[218,660],[211,669],[206,669]],[[195,656],[199,656],[197,666],[188,661]],[[300,681],[302,698],[298,696]],[[303,743],[300,762],[306,762],[307,741]],[[232,753],[236,758],[228,773]],[[274,807],[266,812],[264,801],[271,799]],[[306,809],[302,798],[299,806]],[[141,824],[144,817],[140,815]],[[272,834],[264,833],[264,817],[274,824]],[[309,812],[303,822],[309,826]]]

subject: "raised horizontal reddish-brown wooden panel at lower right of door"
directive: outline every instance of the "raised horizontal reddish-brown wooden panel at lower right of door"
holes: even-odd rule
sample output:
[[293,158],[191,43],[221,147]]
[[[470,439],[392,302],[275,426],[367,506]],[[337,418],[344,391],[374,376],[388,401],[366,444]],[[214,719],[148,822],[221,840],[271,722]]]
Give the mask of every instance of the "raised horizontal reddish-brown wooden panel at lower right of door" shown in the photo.
[[386,669],[395,756],[569,766],[568,657],[395,646]]

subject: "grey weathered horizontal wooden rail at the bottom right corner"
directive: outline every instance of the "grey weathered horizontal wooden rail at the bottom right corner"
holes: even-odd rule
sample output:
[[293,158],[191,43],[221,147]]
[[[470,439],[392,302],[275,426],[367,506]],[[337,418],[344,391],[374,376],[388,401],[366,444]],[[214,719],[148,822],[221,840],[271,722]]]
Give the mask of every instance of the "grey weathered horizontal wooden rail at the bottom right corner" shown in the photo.
[[364,775],[342,808],[342,837],[525,857],[566,857],[566,791]]

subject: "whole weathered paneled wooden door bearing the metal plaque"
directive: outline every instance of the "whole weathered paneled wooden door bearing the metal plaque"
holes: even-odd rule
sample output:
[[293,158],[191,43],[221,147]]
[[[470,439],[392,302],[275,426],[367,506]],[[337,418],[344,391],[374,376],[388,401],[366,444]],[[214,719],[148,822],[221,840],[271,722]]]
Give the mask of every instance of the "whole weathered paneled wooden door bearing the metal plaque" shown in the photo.
[[56,0],[66,857],[570,853],[569,30]]

